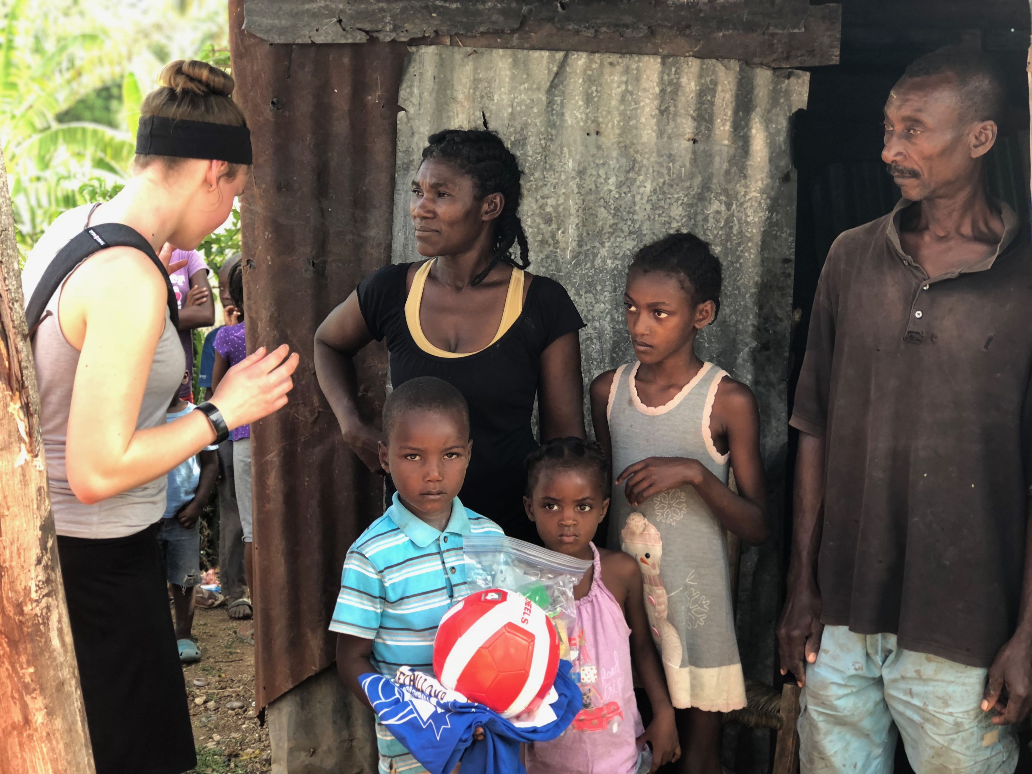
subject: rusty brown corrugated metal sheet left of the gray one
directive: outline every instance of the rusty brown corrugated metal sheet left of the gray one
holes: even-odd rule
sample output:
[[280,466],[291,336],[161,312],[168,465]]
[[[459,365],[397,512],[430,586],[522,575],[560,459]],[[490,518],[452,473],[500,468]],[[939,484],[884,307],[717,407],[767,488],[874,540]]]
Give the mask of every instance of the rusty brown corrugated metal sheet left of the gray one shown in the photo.
[[[256,696],[265,706],[330,666],[345,553],[382,512],[382,481],[341,440],[316,383],[316,327],[389,261],[397,85],[406,49],[269,45],[230,3],[236,97],[254,142],[241,199],[248,346],[301,355],[290,402],[253,428]],[[358,359],[377,415],[386,353]]]

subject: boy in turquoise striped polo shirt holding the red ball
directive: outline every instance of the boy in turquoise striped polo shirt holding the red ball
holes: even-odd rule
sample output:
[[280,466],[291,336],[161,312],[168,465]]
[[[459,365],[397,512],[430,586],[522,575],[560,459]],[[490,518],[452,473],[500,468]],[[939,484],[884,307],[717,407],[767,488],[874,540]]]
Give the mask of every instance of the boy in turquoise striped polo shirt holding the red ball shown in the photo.
[[[397,491],[387,512],[359,536],[344,561],[330,631],[336,667],[368,705],[358,676],[397,668],[433,674],[433,636],[448,609],[470,593],[465,535],[502,534],[459,502],[470,463],[470,412],[462,394],[434,377],[399,385],[384,405],[380,463]],[[379,722],[381,774],[425,771]]]

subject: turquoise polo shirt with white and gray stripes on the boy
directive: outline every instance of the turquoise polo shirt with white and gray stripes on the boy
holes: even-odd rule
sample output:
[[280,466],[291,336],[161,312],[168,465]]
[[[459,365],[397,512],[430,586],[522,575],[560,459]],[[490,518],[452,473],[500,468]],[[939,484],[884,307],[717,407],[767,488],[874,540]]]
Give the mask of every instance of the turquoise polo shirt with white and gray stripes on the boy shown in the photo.
[[[370,662],[393,678],[397,668],[433,674],[433,637],[444,614],[470,593],[462,536],[502,535],[502,527],[452,501],[439,531],[401,505],[387,512],[348,550],[331,632],[373,640]],[[379,722],[380,754],[407,750]]]

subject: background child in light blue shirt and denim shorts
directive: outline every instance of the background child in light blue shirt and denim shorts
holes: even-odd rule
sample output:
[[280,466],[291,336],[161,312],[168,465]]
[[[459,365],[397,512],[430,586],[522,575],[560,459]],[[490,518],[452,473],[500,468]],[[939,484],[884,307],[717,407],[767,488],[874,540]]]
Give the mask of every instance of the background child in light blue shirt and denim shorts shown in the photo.
[[[190,384],[190,372],[183,383]],[[168,405],[168,422],[185,417],[195,408],[176,393]],[[158,545],[165,559],[165,579],[172,589],[175,613],[175,640],[180,660],[200,660],[200,649],[193,641],[194,588],[200,583],[200,529],[197,522],[219,476],[219,447],[207,446],[168,472],[165,513],[158,525]]]

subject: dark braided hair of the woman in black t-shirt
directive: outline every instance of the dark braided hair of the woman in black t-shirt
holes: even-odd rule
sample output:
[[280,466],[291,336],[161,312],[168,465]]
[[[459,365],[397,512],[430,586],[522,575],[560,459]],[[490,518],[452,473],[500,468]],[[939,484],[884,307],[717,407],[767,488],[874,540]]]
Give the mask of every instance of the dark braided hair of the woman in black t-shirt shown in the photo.
[[[492,193],[501,193],[505,197],[506,203],[494,225],[491,260],[471,285],[480,285],[498,263],[508,263],[515,268],[529,266],[526,234],[517,215],[522,172],[516,157],[502,138],[483,129],[446,129],[431,134],[427,141],[429,144],[423,149],[423,161],[441,159],[454,164],[473,178],[479,199]],[[512,257],[513,245],[519,246],[518,260]]]

